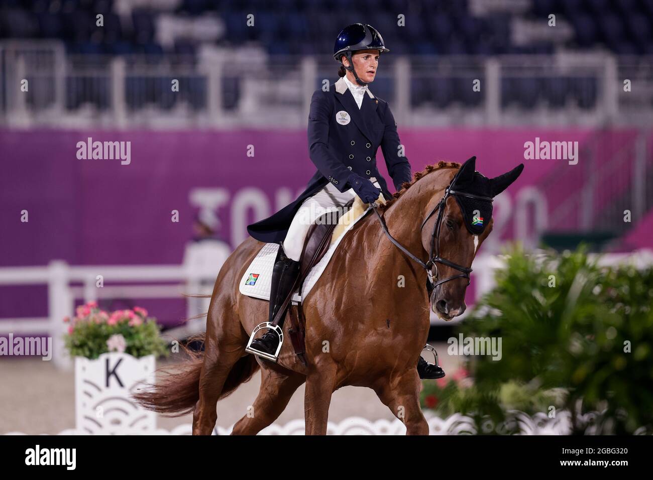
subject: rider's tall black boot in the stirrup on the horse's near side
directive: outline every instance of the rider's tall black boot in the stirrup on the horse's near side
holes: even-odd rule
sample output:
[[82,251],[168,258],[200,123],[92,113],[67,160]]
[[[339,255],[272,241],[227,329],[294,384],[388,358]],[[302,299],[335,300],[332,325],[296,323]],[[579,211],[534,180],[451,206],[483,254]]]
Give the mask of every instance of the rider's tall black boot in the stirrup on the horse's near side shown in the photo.
[[[281,246],[279,246],[281,248]],[[291,289],[297,280],[300,272],[300,263],[289,259],[285,256],[283,251],[279,251],[278,261],[274,264],[272,270],[272,285],[270,286],[270,308],[268,310],[268,322],[272,322],[274,316],[281,308],[281,304],[291,293]],[[286,307],[287,308],[287,307]],[[277,324],[279,328],[283,327],[283,320],[285,315]],[[274,356],[277,347],[279,346],[279,336],[272,330],[266,332],[261,338],[257,338],[251,342],[249,349],[260,351],[268,355]],[[254,355],[256,355],[255,352]]]

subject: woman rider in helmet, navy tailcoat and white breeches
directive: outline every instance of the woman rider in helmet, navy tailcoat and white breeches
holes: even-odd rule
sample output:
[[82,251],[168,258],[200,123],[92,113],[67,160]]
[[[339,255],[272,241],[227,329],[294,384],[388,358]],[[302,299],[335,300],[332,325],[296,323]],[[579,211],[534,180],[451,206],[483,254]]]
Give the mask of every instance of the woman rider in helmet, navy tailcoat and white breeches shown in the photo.
[[[247,227],[261,242],[280,243],[272,272],[269,321],[290,295],[299,274],[299,258],[308,229],[325,212],[342,208],[354,195],[364,203],[375,202],[379,194],[390,199],[385,179],[376,167],[379,146],[394,187],[411,180],[411,166],[401,155],[397,124],[388,104],[368,89],[374,81],[379,55],[389,52],[379,32],[367,24],[345,27],[334,46],[334,59],[342,63],[338,82],[327,91],[317,89],[308,115],[308,145],[317,172],[295,202],[272,217]],[[379,191],[380,190],[380,191]],[[279,327],[283,317],[279,321]],[[274,357],[279,336],[270,330],[253,340],[252,353]],[[420,357],[421,378],[439,378],[439,366]]]

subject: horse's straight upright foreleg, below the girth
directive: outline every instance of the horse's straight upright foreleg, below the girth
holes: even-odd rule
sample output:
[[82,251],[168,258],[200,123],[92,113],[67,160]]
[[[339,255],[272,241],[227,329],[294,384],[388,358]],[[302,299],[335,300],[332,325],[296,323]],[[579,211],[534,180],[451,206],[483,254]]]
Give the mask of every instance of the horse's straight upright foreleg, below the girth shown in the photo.
[[336,366],[315,369],[306,377],[304,421],[306,435],[326,435],[328,408],[336,388]]

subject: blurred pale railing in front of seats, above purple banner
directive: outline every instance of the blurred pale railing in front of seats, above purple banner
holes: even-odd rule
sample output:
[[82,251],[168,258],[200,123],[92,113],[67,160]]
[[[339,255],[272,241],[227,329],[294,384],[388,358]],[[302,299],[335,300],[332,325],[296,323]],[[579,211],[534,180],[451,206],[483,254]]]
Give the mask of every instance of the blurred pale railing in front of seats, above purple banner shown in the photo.
[[[379,65],[370,88],[402,127],[653,124],[653,57],[382,56]],[[336,80],[337,67],[328,56],[260,47],[110,57],[67,55],[58,40],[10,40],[0,42],[0,124],[305,128],[311,93]]]

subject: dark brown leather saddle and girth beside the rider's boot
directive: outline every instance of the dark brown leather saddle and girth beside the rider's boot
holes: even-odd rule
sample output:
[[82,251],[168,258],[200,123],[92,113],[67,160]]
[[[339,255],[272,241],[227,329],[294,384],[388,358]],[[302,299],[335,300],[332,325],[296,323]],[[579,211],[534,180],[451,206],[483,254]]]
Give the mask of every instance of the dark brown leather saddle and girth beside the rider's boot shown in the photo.
[[[345,212],[351,209],[354,200],[350,200],[345,204],[343,210]],[[319,261],[324,257],[325,253],[331,244],[331,238],[336,226],[338,225],[338,220],[340,219],[340,211],[336,212],[327,212],[319,217],[315,223],[311,224],[306,233],[306,239],[304,240],[304,247],[302,248],[302,254],[299,258],[300,263],[300,274],[298,279],[298,289],[302,291],[302,285],[306,276],[311,271],[311,268],[315,266]],[[291,292],[288,298],[285,299],[284,304],[290,303],[291,298],[293,297],[293,292]],[[283,308],[283,307],[282,307]],[[306,319],[304,318],[304,309],[302,308],[301,302],[297,305],[290,305],[289,307],[291,328],[289,328],[288,333],[293,344],[293,349],[295,349],[295,355],[306,365],[306,344],[304,342],[306,338]]]

